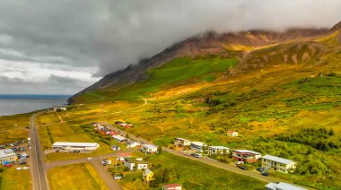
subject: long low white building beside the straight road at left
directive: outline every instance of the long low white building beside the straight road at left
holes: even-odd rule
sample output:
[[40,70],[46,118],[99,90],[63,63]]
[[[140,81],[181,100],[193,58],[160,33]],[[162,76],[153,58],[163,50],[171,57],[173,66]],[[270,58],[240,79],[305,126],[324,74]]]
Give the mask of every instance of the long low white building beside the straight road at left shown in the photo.
[[63,149],[70,151],[94,151],[100,147],[97,142],[55,142],[52,149]]

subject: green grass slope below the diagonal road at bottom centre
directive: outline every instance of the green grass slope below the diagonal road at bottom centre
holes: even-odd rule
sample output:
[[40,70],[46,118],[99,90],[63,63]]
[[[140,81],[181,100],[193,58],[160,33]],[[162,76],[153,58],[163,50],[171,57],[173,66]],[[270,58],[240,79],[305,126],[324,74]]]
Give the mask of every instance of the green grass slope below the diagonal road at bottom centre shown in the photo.
[[[161,178],[160,182],[151,184],[152,189],[159,189],[163,184],[172,183],[179,183],[186,189],[264,189],[267,184],[167,152],[151,155],[146,161],[151,164],[154,177]],[[141,172],[133,172],[127,174],[120,184],[128,189],[148,188],[141,177]]]

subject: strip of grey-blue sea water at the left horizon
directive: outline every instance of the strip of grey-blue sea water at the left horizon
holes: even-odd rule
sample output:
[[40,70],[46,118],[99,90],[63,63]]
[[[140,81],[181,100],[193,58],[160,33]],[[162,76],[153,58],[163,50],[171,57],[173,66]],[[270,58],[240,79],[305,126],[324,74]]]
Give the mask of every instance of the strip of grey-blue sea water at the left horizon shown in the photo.
[[0,116],[63,106],[70,95],[0,95]]

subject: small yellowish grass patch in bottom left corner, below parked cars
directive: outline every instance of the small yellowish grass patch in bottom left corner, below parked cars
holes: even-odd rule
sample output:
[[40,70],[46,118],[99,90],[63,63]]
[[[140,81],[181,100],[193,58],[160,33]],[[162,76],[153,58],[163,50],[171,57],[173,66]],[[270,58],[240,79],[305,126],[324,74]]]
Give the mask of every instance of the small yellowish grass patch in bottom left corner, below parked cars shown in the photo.
[[27,170],[16,170],[13,168],[0,168],[0,189],[31,189],[31,172]]

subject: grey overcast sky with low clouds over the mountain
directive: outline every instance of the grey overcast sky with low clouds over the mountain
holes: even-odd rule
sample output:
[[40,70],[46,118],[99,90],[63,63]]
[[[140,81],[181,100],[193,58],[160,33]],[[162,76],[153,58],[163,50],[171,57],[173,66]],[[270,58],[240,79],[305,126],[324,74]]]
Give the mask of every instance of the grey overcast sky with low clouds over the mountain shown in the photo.
[[0,94],[74,94],[207,30],[331,28],[339,0],[1,0]]

